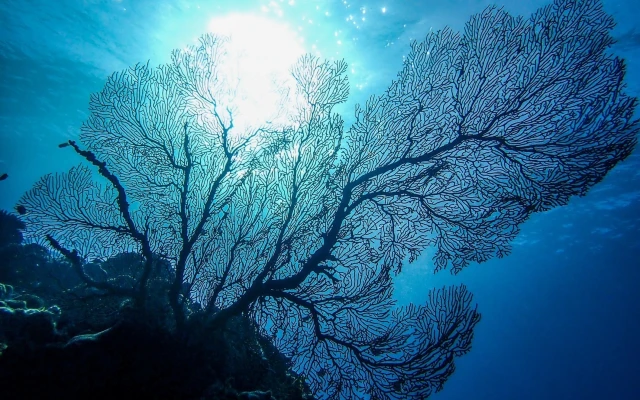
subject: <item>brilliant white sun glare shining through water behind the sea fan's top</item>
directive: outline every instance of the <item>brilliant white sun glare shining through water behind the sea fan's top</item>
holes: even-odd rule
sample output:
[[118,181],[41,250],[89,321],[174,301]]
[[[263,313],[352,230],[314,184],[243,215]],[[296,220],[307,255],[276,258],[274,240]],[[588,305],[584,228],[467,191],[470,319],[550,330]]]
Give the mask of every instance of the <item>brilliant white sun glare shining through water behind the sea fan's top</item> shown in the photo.
[[208,28],[230,39],[228,73],[238,77],[242,93],[234,101],[243,119],[237,122],[255,126],[273,118],[279,92],[291,84],[290,68],[304,53],[297,35],[281,23],[243,14],[215,18]]

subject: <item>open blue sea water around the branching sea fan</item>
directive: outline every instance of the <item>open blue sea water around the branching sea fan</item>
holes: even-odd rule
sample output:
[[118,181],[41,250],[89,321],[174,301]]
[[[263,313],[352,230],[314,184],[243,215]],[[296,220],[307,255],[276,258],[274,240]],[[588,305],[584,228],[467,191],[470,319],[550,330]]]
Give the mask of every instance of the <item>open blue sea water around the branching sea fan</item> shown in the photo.
[[[1,182],[0,208],[12,209],[40,176],[78,163],[56,145],[78,136],[89,95],[110,73],[167,62],[212,19],[267,18],[286,24],[306,51],[345,58],[349,109],[387,87],[412,40],[444,26],[460,30],[491,4],[528,16],[547,1],[4,1],[0,173],[9,179]],[[627,91],[639,96],[637,5],[603,4],[618,23],[611,51],[626,60]],[[472,351],[434,398],[640,396],[639,171],[636,151],[584,198],[534,215],[504,259],[457,276],[433,275],[430,254],[404,268],[400,303],[421,303],[429,288],[462,282],[482,313]]]

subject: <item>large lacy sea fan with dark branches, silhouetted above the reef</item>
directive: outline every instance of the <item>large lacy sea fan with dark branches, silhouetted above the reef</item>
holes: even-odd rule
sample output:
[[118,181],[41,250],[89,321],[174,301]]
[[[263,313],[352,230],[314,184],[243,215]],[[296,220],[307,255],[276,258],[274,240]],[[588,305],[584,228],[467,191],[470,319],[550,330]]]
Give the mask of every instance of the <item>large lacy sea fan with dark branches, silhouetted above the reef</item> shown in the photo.
[[121,293],[137,307],[169,263],[177,331],[196,314],[211,329],[247,315],[320,397],[426,398],[479,314],[464,287],[395,308],[393,274],[427,247],[453,272],[508,254],[533,212],[584,195],[631,153],[636,99],[607,53],[612,27],[594,0],[529,20],[488,8],[462,34],[415,43],[346,132],[333,108],[347,66],[310,56],[292,70],[289,119],[238,131],[225,41],[204,36],[91,97],[67,147],[103,179],[85,166],[41,179],[20,201],[28,235],[107,292],[121,286],[86,261],[140,254]]

